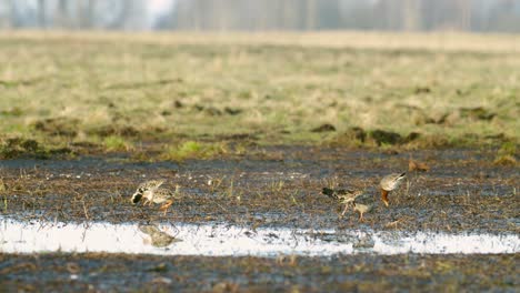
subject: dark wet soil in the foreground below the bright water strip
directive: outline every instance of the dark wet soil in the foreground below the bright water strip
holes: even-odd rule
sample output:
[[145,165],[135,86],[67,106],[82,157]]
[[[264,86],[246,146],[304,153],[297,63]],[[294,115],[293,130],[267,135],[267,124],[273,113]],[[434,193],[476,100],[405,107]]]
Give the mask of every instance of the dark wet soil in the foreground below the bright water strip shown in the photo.
[[518,255],[204,257],[0,254],[6,291],[517,292]]

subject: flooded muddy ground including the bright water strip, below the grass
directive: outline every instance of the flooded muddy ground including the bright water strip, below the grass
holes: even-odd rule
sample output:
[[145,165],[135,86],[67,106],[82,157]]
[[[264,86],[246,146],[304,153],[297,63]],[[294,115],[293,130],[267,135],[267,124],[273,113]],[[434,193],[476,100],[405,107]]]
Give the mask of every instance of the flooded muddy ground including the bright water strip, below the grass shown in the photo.
[[[387,208],[378,182],[401,171],[406,182]],[[482,265],[494,281],[471,287],[519,285],[518,170],[493,164],[491,152],[269,146],[177,163],[124,154],[16,159],[0,172],[0,271],[11,289],[36,277],[50,287],[127,291],[142,277],[140,287],[153,291],[457,291]],[[180,186],[166,213],[130,202],[150,179]],[[357,201],[373,208],[363,221],[352,209],[340,216],[343,205],[321,194],[323,186],[361,189]],[[48,262],[58,279],[38,269]]]

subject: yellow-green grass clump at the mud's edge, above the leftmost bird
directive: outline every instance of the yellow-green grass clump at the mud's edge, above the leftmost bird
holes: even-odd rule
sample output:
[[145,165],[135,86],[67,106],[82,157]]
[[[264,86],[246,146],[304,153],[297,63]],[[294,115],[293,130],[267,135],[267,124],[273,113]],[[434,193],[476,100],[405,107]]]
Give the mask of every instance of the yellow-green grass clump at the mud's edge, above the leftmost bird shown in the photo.
[[184,141],[178,145],[168,146],[160,155],[160,159],[183,161],[187,159],[208,159],[224,153],[228,153],[228,148],[224,143]]

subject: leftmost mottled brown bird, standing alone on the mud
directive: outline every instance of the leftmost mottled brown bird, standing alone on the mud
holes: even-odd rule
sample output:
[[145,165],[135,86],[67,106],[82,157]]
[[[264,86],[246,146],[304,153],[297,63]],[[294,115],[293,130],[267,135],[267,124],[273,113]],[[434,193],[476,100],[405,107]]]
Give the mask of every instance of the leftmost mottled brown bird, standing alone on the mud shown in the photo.
[[143,205],[163,203],[159,210],[164,211],[166,214],[168,208],[173,204],[173,199],[179,192],[179,185],[176,186],[176,192],[172,192],[169,189],[160,188],[162,183],[164,183],[163,180],[150,180],[141,183],[132,195],[132,203],[138,203],[142,198],[146,200]]

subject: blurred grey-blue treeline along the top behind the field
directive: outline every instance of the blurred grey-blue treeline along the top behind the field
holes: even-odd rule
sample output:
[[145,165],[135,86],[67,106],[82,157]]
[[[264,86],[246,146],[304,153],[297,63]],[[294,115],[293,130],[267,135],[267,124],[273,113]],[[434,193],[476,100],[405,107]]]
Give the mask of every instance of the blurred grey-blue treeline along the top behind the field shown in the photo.
[[520,32],[520,1],[0,0],[0,28]]

